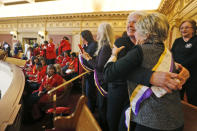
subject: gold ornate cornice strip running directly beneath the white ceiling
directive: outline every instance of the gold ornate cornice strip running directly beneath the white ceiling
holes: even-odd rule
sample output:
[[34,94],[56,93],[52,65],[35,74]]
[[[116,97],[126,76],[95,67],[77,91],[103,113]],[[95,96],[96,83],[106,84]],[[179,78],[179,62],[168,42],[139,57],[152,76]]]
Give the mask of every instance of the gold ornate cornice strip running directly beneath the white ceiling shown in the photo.
[[70,20],[94,20],[94,19],[125,19],[132,11],[119,12],[94,12],[94,13],[76,13],[76,14],[62,14],[62,15],[43,15],[43,16],[25,16],[25,17],[10,17],[0,18],[0,23],[16,23],[18,22],[32,22],[32,21],[70,21]]

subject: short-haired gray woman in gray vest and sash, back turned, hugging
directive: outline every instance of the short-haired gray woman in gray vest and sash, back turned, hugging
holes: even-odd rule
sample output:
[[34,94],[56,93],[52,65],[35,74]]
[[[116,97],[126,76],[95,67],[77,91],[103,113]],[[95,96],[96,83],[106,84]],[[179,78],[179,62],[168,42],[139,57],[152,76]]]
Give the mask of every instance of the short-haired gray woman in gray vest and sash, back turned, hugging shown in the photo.
[[131,115],[127,116],[137,123],[135,131],[182,131],[179,87],[167,93],[163,88],[139,85],[130,79],[132,71],[139,67],[152,71],[176,71],[172,55],[163,43],[168,36],[168,21],[164,15],[152,13],[142,16],[135,29],[138,45],[119,60],[116,56],[124,47],[114,47],[105,67],[105,78],[114,80],[127,76],[131,108]]

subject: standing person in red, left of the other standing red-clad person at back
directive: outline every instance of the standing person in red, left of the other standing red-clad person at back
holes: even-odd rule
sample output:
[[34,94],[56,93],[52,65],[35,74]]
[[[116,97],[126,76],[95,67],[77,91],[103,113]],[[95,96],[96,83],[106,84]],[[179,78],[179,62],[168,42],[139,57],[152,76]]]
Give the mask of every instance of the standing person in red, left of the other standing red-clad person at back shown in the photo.
[[47,44],[46,59],[47,59],[47,65],[55,64],[56,52],[55,52],[55,44],[53,43],[52,38],[50,38],[49,43]]

